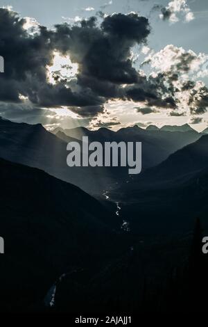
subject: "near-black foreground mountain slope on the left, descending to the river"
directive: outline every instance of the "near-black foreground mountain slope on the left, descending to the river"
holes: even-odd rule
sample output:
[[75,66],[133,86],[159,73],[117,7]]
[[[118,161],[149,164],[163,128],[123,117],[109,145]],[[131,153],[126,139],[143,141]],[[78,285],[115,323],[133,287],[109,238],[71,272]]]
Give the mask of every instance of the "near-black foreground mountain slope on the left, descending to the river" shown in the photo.
[[121,221],[87,193],[3,159],[0,177],[1,310],[31,308],[62,273],[113,256]]

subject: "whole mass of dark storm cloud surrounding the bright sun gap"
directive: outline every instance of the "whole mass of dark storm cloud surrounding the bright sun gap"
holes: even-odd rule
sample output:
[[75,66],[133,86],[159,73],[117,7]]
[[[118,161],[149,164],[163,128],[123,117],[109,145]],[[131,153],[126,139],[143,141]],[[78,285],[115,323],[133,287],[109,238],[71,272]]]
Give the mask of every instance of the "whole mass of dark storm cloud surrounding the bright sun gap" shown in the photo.
[[[146,44],[150,33],[145,17],[114,14],[103,17],[101,24],[90,17],[76,24],[55,25],[53,30],[38,26],[31,34],[24,29],[25,23],[17,13],[0,8],[0,54],[5,59],[1,102],[21,104],[24,100],[19,95],[23,95],[34,108],[67,106],[84,118],[103,113],[109,99],[177,107],[172,83],[177,73],[147,78],[133,66],[132,47]],[[49,83],[47,66],[53,63],[54,51],[69,54],[71,62],[78,64],[76,79],[57,77],[55,84]],[[177,70],[187,72],[192,60],[184,55]],[[191,101],[196,102],[194,95]]]

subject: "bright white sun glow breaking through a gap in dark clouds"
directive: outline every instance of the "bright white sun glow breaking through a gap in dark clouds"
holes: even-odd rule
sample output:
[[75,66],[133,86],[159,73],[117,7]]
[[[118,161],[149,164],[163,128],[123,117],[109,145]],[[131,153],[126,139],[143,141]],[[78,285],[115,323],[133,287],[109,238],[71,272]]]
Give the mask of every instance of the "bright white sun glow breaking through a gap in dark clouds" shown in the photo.
[[72,63],[69,55],[63,56],[58,51],[54,51],[53,55],[53,65],[46,66],[49,83],[57,83],[55,76],[67,79],[68,81],[74,79],[78,73],[78,64]]

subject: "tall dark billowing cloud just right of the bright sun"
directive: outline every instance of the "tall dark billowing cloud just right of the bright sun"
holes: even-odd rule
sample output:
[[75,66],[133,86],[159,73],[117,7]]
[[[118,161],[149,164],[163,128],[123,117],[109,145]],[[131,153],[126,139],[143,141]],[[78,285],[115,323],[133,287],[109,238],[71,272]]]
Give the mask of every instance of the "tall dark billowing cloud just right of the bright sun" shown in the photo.
[[[92,17],[80,26],[57,25],[55,46],[63,53],[70,52],[72,61],[80,64],[78,79],[92,78],[96,83],[137,83],[139,74],[130,60],[131,48],[150,33],[148,19],[137,14],[116,14],[103,19],[101,26]],[[87,78],[86,78],[87,77]],[[83,83],[82,83],[83,85]]]

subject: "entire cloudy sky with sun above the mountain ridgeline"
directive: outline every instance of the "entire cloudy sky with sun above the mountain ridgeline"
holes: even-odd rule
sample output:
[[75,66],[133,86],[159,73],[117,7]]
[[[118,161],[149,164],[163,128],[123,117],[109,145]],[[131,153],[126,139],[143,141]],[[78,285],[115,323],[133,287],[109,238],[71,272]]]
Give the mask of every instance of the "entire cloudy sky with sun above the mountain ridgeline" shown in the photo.
[[207,127],[207,0],[10,0],[0,7],[4,118],[47,129]]

